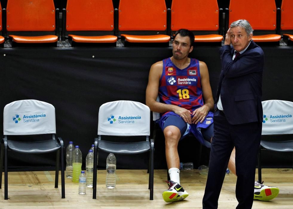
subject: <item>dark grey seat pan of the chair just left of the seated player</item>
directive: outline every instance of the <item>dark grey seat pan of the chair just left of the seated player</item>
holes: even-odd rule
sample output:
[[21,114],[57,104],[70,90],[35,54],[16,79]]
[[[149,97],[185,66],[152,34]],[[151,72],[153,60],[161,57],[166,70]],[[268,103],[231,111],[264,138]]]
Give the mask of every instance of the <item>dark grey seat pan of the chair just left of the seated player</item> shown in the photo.
[[151,149],[148,141],[121,143],[99,140],[98,143],[100,150],[114,154],[139,154]]

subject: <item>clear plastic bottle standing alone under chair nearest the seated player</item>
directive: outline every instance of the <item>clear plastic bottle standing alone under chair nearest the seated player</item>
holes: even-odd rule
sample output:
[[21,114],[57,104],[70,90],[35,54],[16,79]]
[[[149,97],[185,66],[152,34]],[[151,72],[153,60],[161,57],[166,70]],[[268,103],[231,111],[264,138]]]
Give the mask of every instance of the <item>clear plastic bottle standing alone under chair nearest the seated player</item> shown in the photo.
[[116,175],[115,175],[116,157],[113,153],[110,153],[107,157],[106,170],[107,170],[106,187],[108,189],[113,189],[115,188],[115,185],[116,185]]

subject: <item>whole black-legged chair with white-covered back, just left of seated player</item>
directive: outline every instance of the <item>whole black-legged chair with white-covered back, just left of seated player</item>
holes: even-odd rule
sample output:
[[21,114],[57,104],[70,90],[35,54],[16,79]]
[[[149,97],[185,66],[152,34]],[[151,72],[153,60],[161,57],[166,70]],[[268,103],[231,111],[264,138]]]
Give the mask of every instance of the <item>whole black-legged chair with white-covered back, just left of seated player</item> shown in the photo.
[[[150,151],[149,189],[150,200],[154,190],[154,141],[149,141],[150,109],[148,106],[134,101],[107,102],[99,108],[98,138],[94,141],[93,164],[93,199],[96,199],[97,184],[97,150],[114,154],[139,154]],[[104,139],[112,136],[115,142]],[[123,136],[123,137],[119,137]],[[144,136],[144,140],[123,142],[126,136]],[[140,138],[141,138],[140,137]],[[103,138],[103,139],[102,139]],[[119,141],[118,141],[119,140]]]

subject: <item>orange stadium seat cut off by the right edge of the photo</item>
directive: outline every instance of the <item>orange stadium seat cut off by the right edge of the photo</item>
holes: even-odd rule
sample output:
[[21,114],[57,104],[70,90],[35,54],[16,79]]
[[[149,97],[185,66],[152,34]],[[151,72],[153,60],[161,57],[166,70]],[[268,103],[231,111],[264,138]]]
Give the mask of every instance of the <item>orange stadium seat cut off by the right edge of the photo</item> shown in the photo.
[[293,1],[283,0],[281,5],[281,30],[283,38],[293,41]]

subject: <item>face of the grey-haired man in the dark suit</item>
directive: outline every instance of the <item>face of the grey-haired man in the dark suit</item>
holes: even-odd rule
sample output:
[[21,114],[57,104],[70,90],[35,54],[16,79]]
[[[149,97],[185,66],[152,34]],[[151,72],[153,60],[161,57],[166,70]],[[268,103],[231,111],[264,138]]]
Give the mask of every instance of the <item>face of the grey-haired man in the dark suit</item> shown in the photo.
[[251,38],[252,34],[247,35],[245,29],[243,27],[237,26],[237,27],[231,27],[230,28],[230,38],[231,38],[231,43],[234,47],[234,49],[237,52],[241,52],[244,50]]

